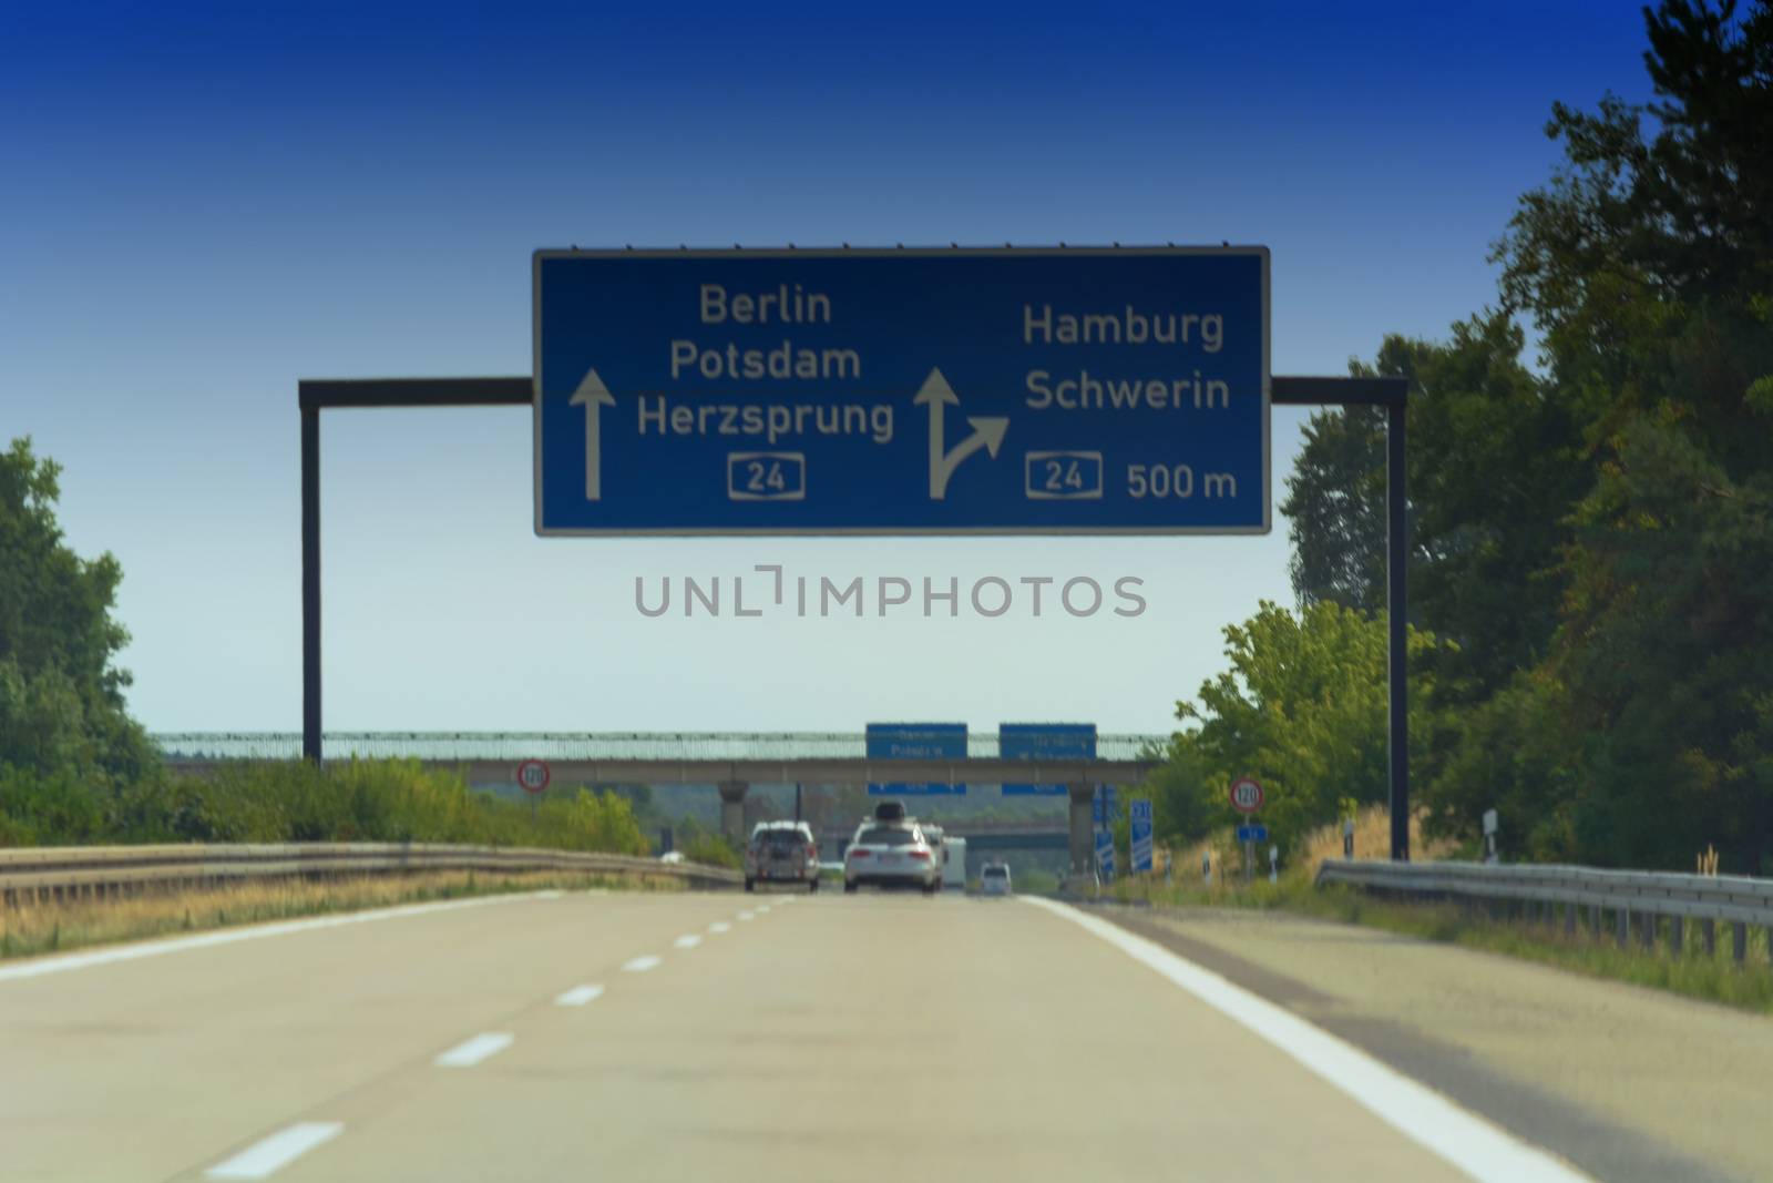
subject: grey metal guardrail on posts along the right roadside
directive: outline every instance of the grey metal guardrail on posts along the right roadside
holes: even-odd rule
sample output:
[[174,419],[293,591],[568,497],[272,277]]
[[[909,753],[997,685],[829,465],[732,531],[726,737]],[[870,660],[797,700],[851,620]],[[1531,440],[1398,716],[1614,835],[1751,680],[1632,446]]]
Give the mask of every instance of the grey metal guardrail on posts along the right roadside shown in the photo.
[[1716,924],[1723,922],[1732,928],[1738,961],[1748,954],[1748,928],[1759,926],[1768,929],[1768,949],[1773,952],[1773,880],[1543,864],[1330,858],[1317,869],[1317,883],[1347,883],[1399,896],[1525,905],[1528,919],[1544,922],[1553,922],[1553,908],[1560,908],[1566,933],[1576,931],[1578,919],[1583,919],[1580,913],[1585,913],[1589,929],[1597,933],[1610,912],[1621,945],[1629,944],[1633,929],[1640,944],[1654,945],[1667,928],[1668,945],[1675,952],[1686,940],[1688,921],[1699,921],[1707,952],[1716,940]]

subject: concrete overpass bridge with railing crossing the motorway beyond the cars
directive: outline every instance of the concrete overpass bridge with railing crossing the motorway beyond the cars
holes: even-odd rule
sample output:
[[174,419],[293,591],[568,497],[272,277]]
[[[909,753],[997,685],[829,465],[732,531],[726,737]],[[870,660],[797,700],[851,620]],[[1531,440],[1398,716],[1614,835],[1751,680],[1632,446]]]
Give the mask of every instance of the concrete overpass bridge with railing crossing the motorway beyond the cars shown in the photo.
[[[301,757],[300,733],[156,734],[170,768],[202,775],[229,761]],[[720,793],[722,828],[745,834],[745,795],[754,784],[966,784],[972,793],[996,793],[1000,784],[1064,787],[1069,825],[1023,830],[968,825],[950,830],[979,850],[1069,848],[1071,864],[1087,871],[1094,860],[1090,796],[1099,784],[1138,784],[1156,768],[1167,736],[1101,734],[1096,759],[1002,759],[996,733],[966,740],[965,759],[869,759],[862,733],[466,733],[363,731],[328,733],[324,759],[417,759],[426,768],[463,773],[480,786],[516,784],[516,766],[544,759],[555,784],[706,784]],[[936,798],[940,800],[940,798]],[[913,807],[915,809],[915,807]],[[949,823],[945,823],[949,825]],[[839,851],[851,830],[821,835],[821,850]]]

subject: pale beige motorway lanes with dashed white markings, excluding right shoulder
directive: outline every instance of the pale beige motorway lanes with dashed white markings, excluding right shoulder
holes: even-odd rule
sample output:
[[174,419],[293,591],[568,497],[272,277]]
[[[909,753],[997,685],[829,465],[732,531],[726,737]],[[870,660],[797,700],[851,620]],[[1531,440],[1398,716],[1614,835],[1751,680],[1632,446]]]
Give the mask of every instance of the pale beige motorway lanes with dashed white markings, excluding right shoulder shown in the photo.
[[1025,899],[541,894],[0,967],[0,1179],[1592,1178]]

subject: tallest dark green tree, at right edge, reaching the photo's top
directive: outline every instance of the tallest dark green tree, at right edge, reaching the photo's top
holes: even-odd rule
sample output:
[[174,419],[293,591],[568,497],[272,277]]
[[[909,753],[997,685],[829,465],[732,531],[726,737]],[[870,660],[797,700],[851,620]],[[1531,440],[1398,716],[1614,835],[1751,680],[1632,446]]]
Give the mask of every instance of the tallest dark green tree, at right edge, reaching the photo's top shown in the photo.
[[[1587,858],[1773,867],[1773,9],[1647,14],[1656,98],[1557,106],[1496,250],[1585,424],[1546,663]],[[1649,124],[1649,129],[1645,129]]]

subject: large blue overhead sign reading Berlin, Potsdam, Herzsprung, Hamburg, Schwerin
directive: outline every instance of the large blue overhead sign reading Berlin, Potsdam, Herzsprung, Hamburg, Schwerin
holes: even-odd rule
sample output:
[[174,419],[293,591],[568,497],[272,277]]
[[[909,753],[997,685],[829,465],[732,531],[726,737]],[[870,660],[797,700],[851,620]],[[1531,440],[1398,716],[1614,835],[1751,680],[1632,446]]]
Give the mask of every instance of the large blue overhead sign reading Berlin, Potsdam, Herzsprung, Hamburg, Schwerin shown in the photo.
[[543,250],[537,534],[1264,534],[1268,248]]

